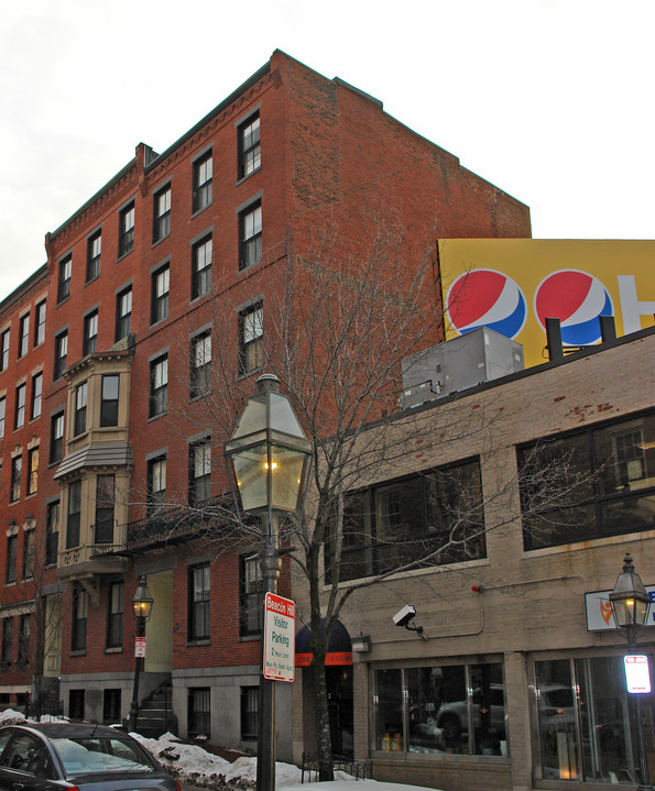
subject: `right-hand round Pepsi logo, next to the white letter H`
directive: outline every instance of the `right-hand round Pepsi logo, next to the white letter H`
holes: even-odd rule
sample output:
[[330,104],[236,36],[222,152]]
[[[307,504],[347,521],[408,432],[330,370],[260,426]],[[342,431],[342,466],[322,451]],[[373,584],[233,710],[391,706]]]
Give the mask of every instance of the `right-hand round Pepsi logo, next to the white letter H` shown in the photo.
[[593,275],[579,270],[560,270],[545,277],[535,292],[534,310],[546,328],[546,318],[561,322],[561,341],[568,347],[598,343],[600,316],[613,316],[608,289]]

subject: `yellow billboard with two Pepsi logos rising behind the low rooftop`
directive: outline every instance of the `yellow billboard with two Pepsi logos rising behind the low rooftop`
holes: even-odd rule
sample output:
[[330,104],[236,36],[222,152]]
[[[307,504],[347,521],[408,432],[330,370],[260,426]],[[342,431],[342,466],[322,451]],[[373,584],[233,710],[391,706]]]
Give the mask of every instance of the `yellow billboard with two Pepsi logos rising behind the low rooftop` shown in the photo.
[[439,240],[447,337],[488,327],[523,344],[525,365],[548,360],[545,319],[565,349],[600,342],[600,316],[616,334],[652,327],[655,241]]

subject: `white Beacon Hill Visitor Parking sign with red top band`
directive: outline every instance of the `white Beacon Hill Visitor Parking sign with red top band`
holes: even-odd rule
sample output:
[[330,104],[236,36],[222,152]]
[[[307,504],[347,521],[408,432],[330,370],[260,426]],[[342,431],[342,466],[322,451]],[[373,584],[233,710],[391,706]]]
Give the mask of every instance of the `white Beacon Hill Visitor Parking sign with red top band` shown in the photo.
[[291,598],[266,593],[264,607],[263,675],[272,681],[293,681],[296,671],[296,605]]

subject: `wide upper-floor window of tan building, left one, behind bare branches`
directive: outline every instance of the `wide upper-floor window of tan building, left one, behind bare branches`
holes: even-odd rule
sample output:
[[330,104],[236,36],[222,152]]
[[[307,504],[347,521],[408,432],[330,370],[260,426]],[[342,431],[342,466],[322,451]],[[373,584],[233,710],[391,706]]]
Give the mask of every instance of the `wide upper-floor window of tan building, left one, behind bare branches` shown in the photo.
[[356,580],[485,554],[480,464],[466,461],[345,495],[342,525],[329,528],[326,575]]

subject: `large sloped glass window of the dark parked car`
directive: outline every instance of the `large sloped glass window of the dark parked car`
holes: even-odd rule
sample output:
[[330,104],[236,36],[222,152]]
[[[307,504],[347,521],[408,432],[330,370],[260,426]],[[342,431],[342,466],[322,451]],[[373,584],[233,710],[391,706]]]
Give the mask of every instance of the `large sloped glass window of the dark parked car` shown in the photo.
[[87,772],[154,772],[148,756],[123,739],[53,739],[66,777]]

